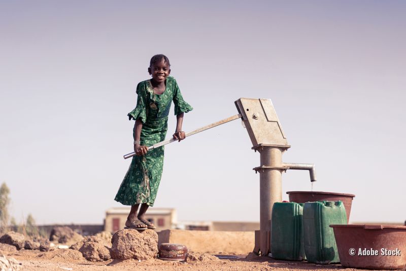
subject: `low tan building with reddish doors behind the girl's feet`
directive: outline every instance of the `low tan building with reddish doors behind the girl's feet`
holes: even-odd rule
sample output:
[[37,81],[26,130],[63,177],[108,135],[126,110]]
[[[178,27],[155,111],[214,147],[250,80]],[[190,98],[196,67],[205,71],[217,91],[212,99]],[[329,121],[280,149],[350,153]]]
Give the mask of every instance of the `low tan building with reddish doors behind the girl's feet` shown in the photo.
[[[116,207],[106,211],[105,230],[112,233],[123,229],[130,212],[129,207]],[[175,228],[176,210],[172,208],[150,208],[145,218],[154,223],[156,231]]]

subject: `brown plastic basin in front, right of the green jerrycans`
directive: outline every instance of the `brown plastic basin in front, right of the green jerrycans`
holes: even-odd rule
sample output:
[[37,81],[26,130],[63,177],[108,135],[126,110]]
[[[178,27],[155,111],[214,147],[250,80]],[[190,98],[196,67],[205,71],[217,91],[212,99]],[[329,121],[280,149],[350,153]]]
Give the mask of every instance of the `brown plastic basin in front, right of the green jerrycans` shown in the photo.
[[[403,269],[405,267],[406,226],[330,225],[330,227],[334,229],[335,243],[337,243],[341,265],[344,267],[367,269]],[[382,255],[382,250],[385,249],[400,251],[398,253],[400,256]],[[350,250],[351,254],[355,253],[355,255],[350,255]],[[360,252],[361,255],[359,255]],[[389,253],[386,252],[386,254]]]

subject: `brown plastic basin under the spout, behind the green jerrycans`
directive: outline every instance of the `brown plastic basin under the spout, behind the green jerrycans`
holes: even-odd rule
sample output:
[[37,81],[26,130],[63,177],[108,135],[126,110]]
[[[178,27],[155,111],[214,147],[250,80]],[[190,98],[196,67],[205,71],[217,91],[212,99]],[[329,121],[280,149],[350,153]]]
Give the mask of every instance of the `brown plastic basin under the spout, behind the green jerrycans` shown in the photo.
[[343,201],[346,208],[347,223],[350,221],[352,199],[355,197],[353,194],[335,193],[335,192],[314,192],[314,191],[288,191],[290,202],[304,203],[309,201]]

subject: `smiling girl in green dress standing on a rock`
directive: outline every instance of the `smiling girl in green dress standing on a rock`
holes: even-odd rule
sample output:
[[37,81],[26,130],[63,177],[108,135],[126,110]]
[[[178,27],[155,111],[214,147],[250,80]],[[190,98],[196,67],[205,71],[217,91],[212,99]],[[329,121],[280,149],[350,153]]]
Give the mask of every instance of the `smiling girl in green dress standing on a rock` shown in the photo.
[[[175,78],[169,77],[171,64],[164,55],[151,58],[148,73],[152,79],[137,85],[137,107],[128,113],[129,119],[136,120],[133,129],[134,152],[127,174],[118,189],[115,200],[131,205],[125,226],[136,229],[154,229],[145,219],[145,212],[154,205],[163,167],[163,146],[148,152],[148,146],[163,141],[166,136],[167,120],[172,101],[177,117],[176,140],[185,139],[182,131],[183,113],[193,108],[183,100]],[[141,204],[140,212],[138,207]],[[138,212],[138,214],[137,214]]]

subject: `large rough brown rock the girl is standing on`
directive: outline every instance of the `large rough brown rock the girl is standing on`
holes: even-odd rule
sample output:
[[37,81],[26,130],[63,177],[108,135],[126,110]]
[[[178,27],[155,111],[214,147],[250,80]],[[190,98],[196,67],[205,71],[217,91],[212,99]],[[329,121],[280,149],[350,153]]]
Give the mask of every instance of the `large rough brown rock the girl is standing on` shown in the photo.
[[113,235],[112,244],[112,258],[153,259],[158,253],[158,234],[152,229],[123,229]]

